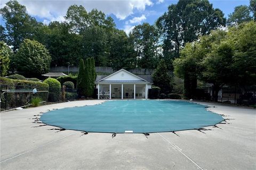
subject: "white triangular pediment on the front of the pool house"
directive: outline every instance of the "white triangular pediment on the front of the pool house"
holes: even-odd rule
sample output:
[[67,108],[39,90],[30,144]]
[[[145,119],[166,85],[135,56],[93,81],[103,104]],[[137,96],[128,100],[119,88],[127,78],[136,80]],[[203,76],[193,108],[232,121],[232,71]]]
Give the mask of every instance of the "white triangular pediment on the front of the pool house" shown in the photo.
[[99,80],[98,82],[113,82],[113,81],[134,81],[134,82],[138,82],[138,81],[142,81],[142,82],[147,82],[145,79],[142,79],[134,74],[132,74],[129,71],[126,71],[125,69],[121,69],[119,71],[114,72],[113,74],[102,78],[101,80]]

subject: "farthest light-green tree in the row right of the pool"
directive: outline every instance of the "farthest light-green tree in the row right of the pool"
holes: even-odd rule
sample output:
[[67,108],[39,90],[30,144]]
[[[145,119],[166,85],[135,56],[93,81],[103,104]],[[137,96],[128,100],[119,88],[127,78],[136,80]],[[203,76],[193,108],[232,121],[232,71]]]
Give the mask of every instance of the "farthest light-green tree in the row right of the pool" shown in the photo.
[[226,31],[215,30],[209,36],[201,36],[199,41],[187,43],[180,52],[180,58],[174,60],[174,73],[184,79],[186,98],[194,98],[196,95],[197,79],[202,72],[202,60],[212,51],[215,44],[220,44],[226,35]]

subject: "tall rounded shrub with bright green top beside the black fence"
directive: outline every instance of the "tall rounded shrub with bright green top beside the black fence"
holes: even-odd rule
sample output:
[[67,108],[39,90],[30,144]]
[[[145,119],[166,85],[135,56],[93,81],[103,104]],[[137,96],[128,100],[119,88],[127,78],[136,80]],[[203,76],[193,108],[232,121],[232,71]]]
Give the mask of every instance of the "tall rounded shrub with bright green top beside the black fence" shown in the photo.
[[49,85],[48,101],[57,102],[60,99],[60,82],[54,78],[47,78],[44,83]]

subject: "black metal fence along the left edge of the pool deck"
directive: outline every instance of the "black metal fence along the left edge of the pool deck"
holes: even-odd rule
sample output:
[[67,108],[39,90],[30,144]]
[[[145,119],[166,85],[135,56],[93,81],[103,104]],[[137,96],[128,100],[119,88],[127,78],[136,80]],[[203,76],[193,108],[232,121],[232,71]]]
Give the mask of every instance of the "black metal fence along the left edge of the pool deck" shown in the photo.
[[31,86],[0,85],[1,111],[30,106],[35,97],[41,98],[43,103],[78,99],[78,90],[74,88],[40,88],[36,93],[33,90]]

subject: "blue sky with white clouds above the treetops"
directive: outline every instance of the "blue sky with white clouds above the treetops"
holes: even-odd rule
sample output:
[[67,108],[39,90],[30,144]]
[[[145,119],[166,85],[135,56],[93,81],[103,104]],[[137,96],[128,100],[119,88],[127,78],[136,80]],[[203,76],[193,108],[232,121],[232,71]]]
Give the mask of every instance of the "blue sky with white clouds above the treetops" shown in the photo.
[[[1,8],[7,1],[1,0]],[[154,24],[158,17],[167,11],[167,7],[176,4],[178,1],[170,0],[95,0],[95,1],[68,1],[68,0],[18,0],[19,3],[27,7],[27,12],[38,21],[45,24],[53,20],[63,21],[68,7],[72,4],[83,5],[87,11],[94,8],[110,15],[116,23],[118,29],[124,29],[126,33],[136,25],[143,22]],[[238,5],[249,5],[248,1],[225,0],[210,1],[214,8],[219,8],[225,13],[225,17],[234,11]],[[1,25],[4,25],[1,21]]]

